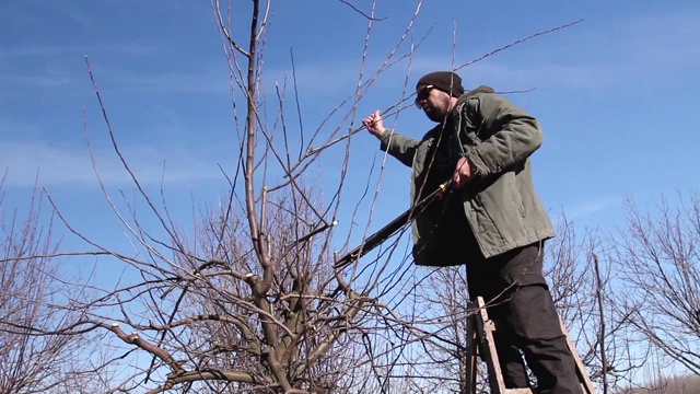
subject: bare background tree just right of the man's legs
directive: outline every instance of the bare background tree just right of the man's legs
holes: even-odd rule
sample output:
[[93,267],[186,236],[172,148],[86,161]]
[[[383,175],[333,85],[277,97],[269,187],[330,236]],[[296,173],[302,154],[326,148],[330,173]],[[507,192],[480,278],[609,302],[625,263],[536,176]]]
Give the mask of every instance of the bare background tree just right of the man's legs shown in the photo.
[[564,327],[602,392],[629,381],[643,359],[629,352],[630,311],[618,305],[609,242],[598,231],[576,234],[561,216],[548,242],[546,277]]

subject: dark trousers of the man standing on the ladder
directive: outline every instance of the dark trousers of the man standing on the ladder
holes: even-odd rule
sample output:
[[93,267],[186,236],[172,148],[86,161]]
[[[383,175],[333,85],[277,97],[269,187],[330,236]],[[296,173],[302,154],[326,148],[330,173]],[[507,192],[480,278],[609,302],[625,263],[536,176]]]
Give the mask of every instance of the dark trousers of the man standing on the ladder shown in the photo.
[[483,297],[495,324],[494,345],[506,387],[529,386],[524,355],[539,393],[581,393],[542,260],[544,243],[537,243],[468,262],[469,296]]

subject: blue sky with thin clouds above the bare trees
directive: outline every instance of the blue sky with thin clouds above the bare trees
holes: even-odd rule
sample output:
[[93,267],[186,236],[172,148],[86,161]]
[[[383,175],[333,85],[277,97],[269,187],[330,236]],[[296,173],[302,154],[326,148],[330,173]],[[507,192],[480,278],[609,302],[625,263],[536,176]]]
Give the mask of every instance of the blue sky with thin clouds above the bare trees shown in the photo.
[[[371,7],[353,4],[365,12]],[[234,20],[245,21],[237,34],[247,28],[248,8],[248,1],[234,1]],[[386,19],[374,23],[365,72],[381,65],[415,8],[409,1],[378,2],[376,15]],[[552,217],[563,211],[581,227],[611,229],[623,219],[626,197],[652,207],[662,194],[697,190],[700,134],[691,115],[700,88],[700,4],[428,1],[415,36],[430,34],[410,62],[407,84],[410,90],[422,73],[582,18],[459,73],[466,88],[534,89],[510,97],[544,127],[534,164],[546,206]],[[219,165],[234,172],[237,142],[228,63],[208,1],[4,1],[0,20],[0,167],[8,169],[9,207],[25,204],[38,173],[71,223],[100,241],[124,242],[90,163],[83,107],[103,179],[127,196],[135,188],[110,150],[85,55],[127,160],[150,190],[164,182],[172,212],[185,227],[191,224],[192,201],[196,208],[213,204],[226,190]],[[275,1],[270,22],[267,97],[273,103],[275,82],[291,76],[293,51],[311,135],[357,85],[368,21],[339,1],[317,0]],[[404,45],[399,51],[406,50]],[[382,73],[354,116],[345,123],[335,117],[320,130],[322,140],[396,103],[408,70],[405,60]],[[290,125],[298,125],[293,106],[287,109]],[[415,108],[387,124],[415,137],[431,127]],[[364,132],[352,139],[346,215],[360,199],[352,190],[361,192],[368,177],[377,179],[376,169],[371,173],[384,160],[377,148]],[[342,152],[339,144],[314,167],[319,185],[337,181]],[[408,177],[407,167],[386,163],[372,229],[407,208]],[[361,211],[355,222],[363,227],[368,216]]]

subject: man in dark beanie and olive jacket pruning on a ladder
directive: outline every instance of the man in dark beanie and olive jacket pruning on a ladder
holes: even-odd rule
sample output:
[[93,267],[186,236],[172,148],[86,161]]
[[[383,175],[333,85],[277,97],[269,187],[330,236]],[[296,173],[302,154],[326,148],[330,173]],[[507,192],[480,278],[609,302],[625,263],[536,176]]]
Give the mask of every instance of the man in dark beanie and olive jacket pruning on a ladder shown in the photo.
[[416,105],[438,124],[421,140],[386,129],[378,111],[363,119],[383,151],[412,167],[413,201],[454,182],[455,192],[412,223],[416,264],[467,266],[469,294],[483,297],[498,327],[506,387],[529,385],[522,350],[540,393],[581,393],[542,275],[555,231],[529,161],[542,141],[539,123],[488,86],[465,93],[454,72],[429,73],[416,91]]

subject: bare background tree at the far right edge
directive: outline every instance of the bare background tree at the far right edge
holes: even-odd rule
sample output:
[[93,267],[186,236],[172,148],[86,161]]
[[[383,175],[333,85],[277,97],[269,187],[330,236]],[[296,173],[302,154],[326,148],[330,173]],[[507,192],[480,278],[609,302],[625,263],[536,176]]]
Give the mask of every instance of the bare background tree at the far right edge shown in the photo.
[[663,198],[655,212],[628,204],[628,224],[615,245],[626,293],[618,301],[633,311],[639,340],[700,374],[700,200]]

